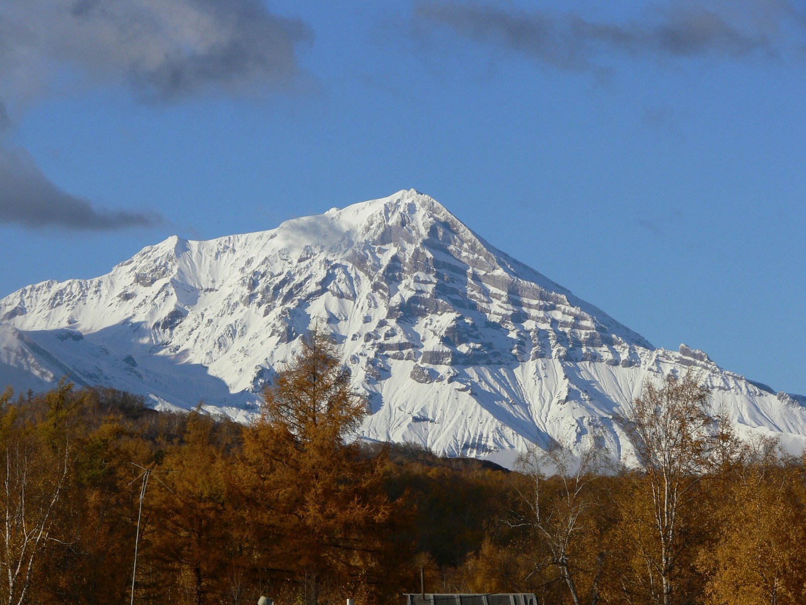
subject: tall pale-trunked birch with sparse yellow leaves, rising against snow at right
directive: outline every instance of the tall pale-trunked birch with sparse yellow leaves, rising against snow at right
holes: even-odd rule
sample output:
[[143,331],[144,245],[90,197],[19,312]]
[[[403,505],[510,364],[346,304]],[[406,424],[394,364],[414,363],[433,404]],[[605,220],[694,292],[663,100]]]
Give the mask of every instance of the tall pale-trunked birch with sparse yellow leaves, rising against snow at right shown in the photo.
[[654,603],[682,602],[677,595],[683,557],[703,528],[696,509],[702,482],[722,464],[724,422],[709,415],[710,391],[687,373],[667,375],[661,386],[646,383],[621,424],[634,446],[638,469],[625,516],[634,528],[634,553],[641,561],[638,582]]

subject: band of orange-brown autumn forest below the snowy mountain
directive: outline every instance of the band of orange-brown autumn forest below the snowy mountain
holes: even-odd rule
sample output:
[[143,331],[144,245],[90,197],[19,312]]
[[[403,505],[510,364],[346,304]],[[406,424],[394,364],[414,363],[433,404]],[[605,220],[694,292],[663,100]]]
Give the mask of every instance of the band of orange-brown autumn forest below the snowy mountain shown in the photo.
[[[0,398],[2,603],[804,603],[806,482],[775,440],[740,443],[691,377],[519,469],[346,443],[362,400],[321,332],[242,426],[111,389]],[[136,573],[133,574],[136,552]]]

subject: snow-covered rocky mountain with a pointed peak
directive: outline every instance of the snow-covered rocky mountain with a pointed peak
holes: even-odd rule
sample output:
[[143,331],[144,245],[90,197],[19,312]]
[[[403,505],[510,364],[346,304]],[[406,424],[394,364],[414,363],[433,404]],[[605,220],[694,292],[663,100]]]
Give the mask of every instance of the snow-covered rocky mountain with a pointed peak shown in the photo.
[[646,380],[693,368],[740,432],[806,444],[804,398],[654,348],[476,236],[414,190],[272,231],[143,248],[110,273],[43,282],[0,301],[0,385],[68,375],[236,419],[314,321],[369,399],[362,434],[509,464],[530,442],[579,443]]

